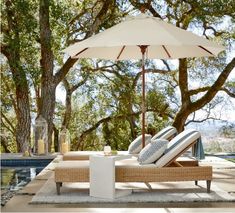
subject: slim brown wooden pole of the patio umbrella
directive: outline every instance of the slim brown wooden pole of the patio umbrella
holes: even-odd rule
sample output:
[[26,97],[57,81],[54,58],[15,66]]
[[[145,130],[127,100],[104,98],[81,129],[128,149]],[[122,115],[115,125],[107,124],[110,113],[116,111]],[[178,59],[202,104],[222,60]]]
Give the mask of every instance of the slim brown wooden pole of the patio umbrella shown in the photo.
[[147,45],[140,45],[142,53],[142,148],[145,147],[145,52]]

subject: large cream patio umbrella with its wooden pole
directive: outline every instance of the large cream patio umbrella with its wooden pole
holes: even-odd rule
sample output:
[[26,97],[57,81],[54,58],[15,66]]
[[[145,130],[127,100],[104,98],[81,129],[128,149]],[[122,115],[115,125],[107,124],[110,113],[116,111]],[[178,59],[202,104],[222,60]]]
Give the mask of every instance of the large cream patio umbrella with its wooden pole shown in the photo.
[[145,57],[216,56],[224,47],[159,18],[140,14],[64,50],[72,58],[142,59],[142,146],[145,146]]

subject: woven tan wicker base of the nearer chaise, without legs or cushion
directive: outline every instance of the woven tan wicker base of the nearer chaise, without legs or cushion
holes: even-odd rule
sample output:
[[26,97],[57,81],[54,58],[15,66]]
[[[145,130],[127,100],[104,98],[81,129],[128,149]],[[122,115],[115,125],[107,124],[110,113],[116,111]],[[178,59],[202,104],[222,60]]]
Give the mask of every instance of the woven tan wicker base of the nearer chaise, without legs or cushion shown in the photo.
[[[167,182],[212,180],[211,166],[197,166],[197,161],[180,162],[184,167],[116,167],[116,182]],[[55,168],[55,182],[89,182],[89,166]]]

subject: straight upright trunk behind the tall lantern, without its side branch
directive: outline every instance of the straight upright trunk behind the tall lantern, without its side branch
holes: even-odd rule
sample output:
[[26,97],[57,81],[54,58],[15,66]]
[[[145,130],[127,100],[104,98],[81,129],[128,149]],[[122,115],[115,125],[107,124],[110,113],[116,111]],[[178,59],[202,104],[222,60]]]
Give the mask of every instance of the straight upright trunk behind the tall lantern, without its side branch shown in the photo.
[[41,109],[39,113],[48,123],[48,151],[51,150],[53,133],[53,115],[55,109],[55,83],[53,76],[53,52],[51,47],[51,29],[49,23],[49,0],[40,0],[39,8],[41,43]]

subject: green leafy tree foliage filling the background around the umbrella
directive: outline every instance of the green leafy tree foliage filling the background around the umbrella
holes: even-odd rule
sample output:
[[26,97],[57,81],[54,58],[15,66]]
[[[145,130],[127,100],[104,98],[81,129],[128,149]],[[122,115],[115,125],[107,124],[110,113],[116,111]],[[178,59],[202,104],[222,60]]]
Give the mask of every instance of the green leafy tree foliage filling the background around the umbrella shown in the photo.
[[[12,52],[19,50],[21,74],[22,76],[25,74],[30,87],[31,112],[37,113],[36,101],[41,86],[39,2],[17,0],[10,1],[11,4],[6,5],[7,2],[1,1],[1,43],[3,46],[10,46]],[[139,12],[139,9],[131,2],[136,1],[50,1],[54,73],[65,63],[62,52],[65,47],[119,23],[126,15]],[[104,4],[107,8],[103,9]],[[155,10],[169,22],[184,29],[196,30],[196,33],[207,36],[209,39],[223,42],[229,47],[228,51],[231,51],[234,46],[234,1],[232,0],[161,0],[151,1],[151,6],[153,8],[151,11]],[[14,20],[12,24],[15,28],[12,31],[8,29],[9,17],[13,17]],[[97,29],[93,30],[96,26],[98,26]],[[190,89],[195,89],[195,85],[199,88],[212,85],[228,63],[227,54],[228,52],[223,53],[220,57],[213,59],[191,59],[188,63],[189,82],[192,85]],[[15,151],[15,86],[7,62],[4,60],[1,62],[1,78],[3,79],[1,110],[9,120],[7,123],[6,119],[1,118],[1,132],[7,135],[9,150]],[[177,90],[179,86],[177,66],[168,61],[167,63],[170,69],[176,70],[174,73],[148,74],[146,117],[147,132],[151,134],[155,134],[170,124],[181,105]],[[150,60],[146,63],[147,67],[153,70],[160,69],[159,64],[156,65]],[[78,60],[66,76],[69,85],[76,85],[87,75],[89,77],[85,84],[72,94],[69,131],[74,149],[78,147],[84,150],[102,150],[103,145],[109,144],[112,149],[126,150],[129,143],[141,133],[142,86],[140,77],[137,78],[140,67],[140,61],[114,63]],[[233,80],[228,81],[225,86],[234,93]],[[196,97],[193,97],[192,101],[194,98],[196,100]],[[221,103],[221,100],[220,97],[216,98],[210,103],[210,107]],[[61,127],[64,112],[64,103],[61,100],[57,101],[54,123],[58,129]],[[222,132],[227,137],[234,136],[230,126],[224,127]],[[221,149],[216,142],[214,148],[217,151]]]

